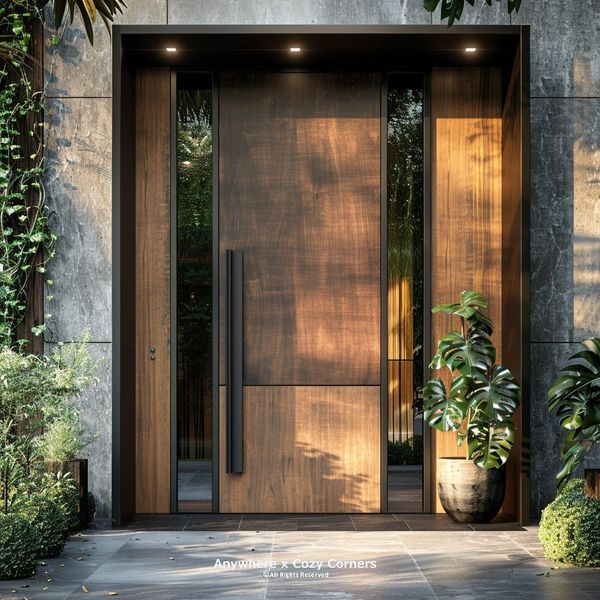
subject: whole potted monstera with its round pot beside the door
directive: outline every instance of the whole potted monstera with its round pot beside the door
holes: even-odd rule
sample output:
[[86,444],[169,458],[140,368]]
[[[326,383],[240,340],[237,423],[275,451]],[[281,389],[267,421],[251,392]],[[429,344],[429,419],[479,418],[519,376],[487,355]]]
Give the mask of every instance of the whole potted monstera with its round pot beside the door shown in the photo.
[[485,308],[486,299],[469,291],[462,292],[458,303],[432,309],[458,317],[460,329],[439,340],[429,365],[447,369],[446,381],[434,377],[423,390],[427,423],[457,432],[458,445],[465,449],[464,457],[437,459],[440,501],[462,522],[488,522],[502,506],[505,463],[515,438],[512,417],[521,398],[510,370],[496,364],[493,325],[481,312]]

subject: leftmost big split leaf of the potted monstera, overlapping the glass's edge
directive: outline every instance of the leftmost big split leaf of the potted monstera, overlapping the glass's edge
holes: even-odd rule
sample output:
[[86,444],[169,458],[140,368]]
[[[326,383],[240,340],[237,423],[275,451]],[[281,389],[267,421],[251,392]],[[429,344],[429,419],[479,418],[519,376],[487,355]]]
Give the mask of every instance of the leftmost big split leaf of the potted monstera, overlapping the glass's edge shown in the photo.
[[423,416],[429,425],[440,431],[456,431],[469,408],[464,397],[468,388],[468,378],[456,377],[447,395],[446,385],[439,377],[428,381],[423,388]]

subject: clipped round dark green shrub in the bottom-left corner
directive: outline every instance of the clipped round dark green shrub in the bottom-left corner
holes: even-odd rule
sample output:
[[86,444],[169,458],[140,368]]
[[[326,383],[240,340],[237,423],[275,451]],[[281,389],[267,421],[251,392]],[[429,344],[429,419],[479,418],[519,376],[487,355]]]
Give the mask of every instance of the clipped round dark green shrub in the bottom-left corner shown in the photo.
[[31,577],[38,543],[35,529],[20,515],[0,514],[0,579]]

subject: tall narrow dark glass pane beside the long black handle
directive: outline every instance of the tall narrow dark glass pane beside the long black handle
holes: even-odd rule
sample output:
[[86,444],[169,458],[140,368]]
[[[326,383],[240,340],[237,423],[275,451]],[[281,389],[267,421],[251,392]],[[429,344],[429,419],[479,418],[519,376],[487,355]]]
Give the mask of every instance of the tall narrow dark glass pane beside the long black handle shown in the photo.
[[212,203],[210,77],[177,78],[177,504],[212,510]]

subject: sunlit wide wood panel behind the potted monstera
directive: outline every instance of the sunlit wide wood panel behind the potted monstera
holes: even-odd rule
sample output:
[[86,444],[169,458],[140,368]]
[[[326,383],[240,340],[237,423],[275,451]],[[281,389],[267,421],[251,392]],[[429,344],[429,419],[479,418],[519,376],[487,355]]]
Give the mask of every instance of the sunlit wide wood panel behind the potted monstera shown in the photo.
[[[463,290],[483,293],[495,323],[502,360],[502,75],[498,68],[434,68],[431,75],[432,206],[431,304],[454,302]],[[432,348],[456,323],[432,319]],[[431,497],[437,497],[435,459],[462,456],[455,434],[432,435]]]

